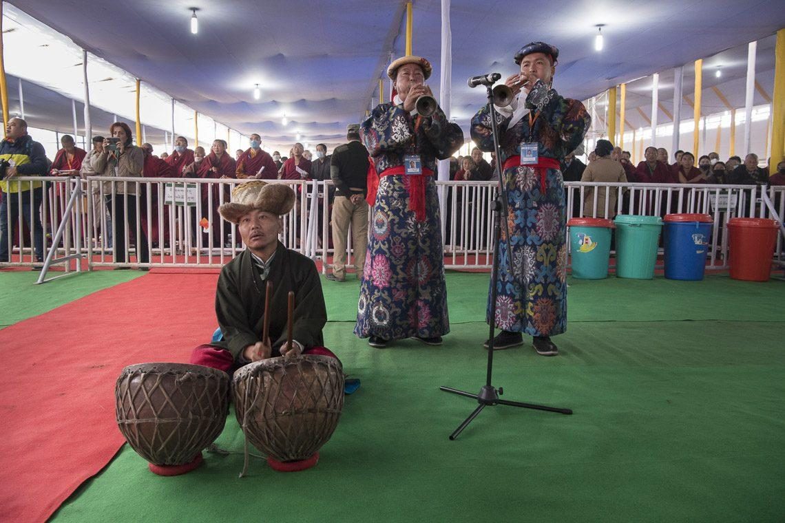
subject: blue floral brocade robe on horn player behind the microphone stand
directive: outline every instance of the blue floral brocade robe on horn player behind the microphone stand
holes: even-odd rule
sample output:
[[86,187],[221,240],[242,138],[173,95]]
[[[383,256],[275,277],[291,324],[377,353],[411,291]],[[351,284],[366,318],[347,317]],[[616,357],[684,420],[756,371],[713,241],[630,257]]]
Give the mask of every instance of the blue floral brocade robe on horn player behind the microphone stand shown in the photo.
[[[512,127],[511,111],[499,113],[497,129],[501,161],[520,154],[523,141],[538,143],[539,158],[558,162],[575,150],[589,129],[591,118],[578,100],[563,98],[538,81],[526,98],[534,118],[524,114]],[[490,108],[472,118],[472,139],[483,151],[493,151]],[[495,325],[531,336],[553,336],[567,329],[567,212],[564,180],[559,169],[547,169],[546,191],[531,167],[512,165],[504,170],[512,264],[502,227],[499,242]],[[512,267],[510,267],[512,265]],[[491,284],[492,285],[492,284]],[[487,319],[491,318],[490,293]]]

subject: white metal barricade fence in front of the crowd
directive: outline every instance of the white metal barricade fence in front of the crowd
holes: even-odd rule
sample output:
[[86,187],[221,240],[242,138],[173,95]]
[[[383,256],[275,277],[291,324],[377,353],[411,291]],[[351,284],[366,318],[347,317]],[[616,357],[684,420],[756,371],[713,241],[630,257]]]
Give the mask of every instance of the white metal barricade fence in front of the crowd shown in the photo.
[[[89,267],[222,267],[243,249],[239,231],[217,212],[229,201],[232,188],[245,180],[199,178],[109,178],[20,177],[41,183],[38,193],[2,194],[16,198],[5,205],[6,218],[12,207],[14,220],[34,223],[35,206],[40,201],[44,234],[57,231],[64,216],[65,202],[75,183],[82,184],[84,196],[71,210],[68,228],[60,245],[43,242],[48,249],[68,256],[81,245]],[[330,187],[327,181],[270,180],[290,185],[297,203],[283,217],[281,241],[313,259],[330,260]],[[484,269],[491,267],[493,253],[494,201],[496,182],[437,181],[444,202],[442,238],[445,267]],[[785,187],[764,187],[776,215],[761,202],[761,187],[754,185],[646,184],[646,183],[565,183],[568,220],[574,216],[610,216],[629,213],[665,216],[669,212],[703,212],[714,218],[709,250],[710,268],[723,269],[728,260],[729,219],[737,216],[770,217],[783,221]],[[602,198],[603,193],[612,198]],[[27,198],[27,200],[25,200]],[[27,209],[26,220],[19,220]],[[75,220],[81,213],[82,220]],[[369,220],[373,221],[372,209]],[[80,223],[77,230],[77,223]],[[34,227],[6,236],[9,263],[35,263]],[[373,227],[368,227],[372,234]],[[79,235],[79,242],[76,236]],[[347,254],[352,253],[352,234],[347,238]],[[15,245],[17,244],[17,245]],[[778,236],[775,261],[785,261],[785,242]],[[351,258],[347,258],[351,260]],[[70,270],[70,263],[68,269]],[[327,263],[323,263],[327,271]]]

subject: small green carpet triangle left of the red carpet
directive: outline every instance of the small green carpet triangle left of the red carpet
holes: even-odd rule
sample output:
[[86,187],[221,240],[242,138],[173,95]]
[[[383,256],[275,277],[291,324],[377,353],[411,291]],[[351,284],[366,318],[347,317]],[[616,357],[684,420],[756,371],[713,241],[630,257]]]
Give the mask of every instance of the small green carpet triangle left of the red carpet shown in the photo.
[[[82,296],[112,285],[139,278],[140,271],[93,271],[70,274],[55,281],[35,285],[40,272],[0,271],[0,329],[13,325],[65,303],[79,300]],[[48,277],[52,278],[53,273]]]

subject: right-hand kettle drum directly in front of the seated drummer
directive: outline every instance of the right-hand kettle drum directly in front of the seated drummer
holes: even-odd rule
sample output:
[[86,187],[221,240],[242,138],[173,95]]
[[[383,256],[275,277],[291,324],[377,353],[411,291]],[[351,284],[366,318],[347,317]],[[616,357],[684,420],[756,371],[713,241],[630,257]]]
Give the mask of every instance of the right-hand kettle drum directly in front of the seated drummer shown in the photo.
[[235,410],[246,440],[282,471],[316,465],[341,417],[341,361],[305,355],[269,358],[235,372]]

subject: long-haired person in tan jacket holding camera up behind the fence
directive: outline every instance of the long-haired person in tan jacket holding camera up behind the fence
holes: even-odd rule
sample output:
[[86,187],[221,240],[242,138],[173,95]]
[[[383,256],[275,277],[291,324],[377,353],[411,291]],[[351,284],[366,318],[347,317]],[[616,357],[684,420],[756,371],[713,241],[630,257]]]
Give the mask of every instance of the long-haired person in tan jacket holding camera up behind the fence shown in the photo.
[[[115,122],[109,128],[110,138],[104,139],[104,151],[97,155],[93,162],[97,176],[118,178],[141,178],[144,169],[144,151],[133,145],[131,129],[123,122]],[[137,220],[137,184],[135,182],[116,182],[114,191],[112,183],[104,183],[104,198],[114,226],[112,238],[112,254],[115,263],[129,263],[129,252],[126,249],[128,238],[137,237],[137,262],[148,263],[147,234]],[[124,216],[128,216],[128,220]],[[137,223],[139,227],[137,227]],[[126,230],[126,225],[128,229]],[[138,232],[137,232],[138,229]],[[129,245],[130,246],[130,245]]]

